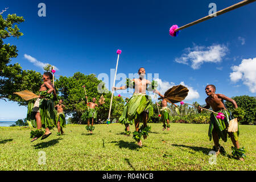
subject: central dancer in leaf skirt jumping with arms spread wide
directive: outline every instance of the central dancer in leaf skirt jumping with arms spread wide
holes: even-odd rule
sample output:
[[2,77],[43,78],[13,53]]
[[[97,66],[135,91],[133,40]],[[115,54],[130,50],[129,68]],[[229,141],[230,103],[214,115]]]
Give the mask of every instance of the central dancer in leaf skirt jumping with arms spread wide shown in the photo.
[[[134,78],[132,81],[127,78],[125,86],[120,88],[113,87],[113,90],[123,90],[129,88],[134,88],[133,97],[131,97],[123,109],[123,114],[119,118],[119,122],[128,119],[132,121],[134,119],[135,123],[135,132],[133,133],[133,138],[138,142],[139,146],[142,146],[141,137],[146,139],[148,136],[148,131],[150,127],[147,126],[147,121],[151,119],[151,116],[154,114],[151,98],[146,95],[146,90],[153,91],[158,94],[160,97],[162,94],[156,90],[157,83],[144,78],[146,72],[144,68],[139,68],[138,70],[139,78]],[[143,122],[141,128],[139,128],[139,122]]]

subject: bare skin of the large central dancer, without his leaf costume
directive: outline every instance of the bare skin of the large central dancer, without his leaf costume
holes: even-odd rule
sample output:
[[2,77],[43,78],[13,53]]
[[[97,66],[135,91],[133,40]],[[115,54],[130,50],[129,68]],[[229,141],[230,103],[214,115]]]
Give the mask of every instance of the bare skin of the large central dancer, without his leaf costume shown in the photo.
[[[151,84],[151,82],[149,80],[146,80],[144,78],[144,76],[146,75],[145,69],[144,68],[140,68],[138,71],[139,74],[139,78],[134,78],[133,81],[135,82],[135,90],[134,93],[146,93],[146,88],[147,85]],[[113,87],[113,90],[123,90],[123,89],[127,89],[127,86],[121,86],[120,88],[117,87]],[[160,97],[164,97],[162,94],[159,93],[158,90],[154,90],[154,92],[156,94],[158,94]],[[146,127],[147,126],[147,119],[148,119],[148,113],[146,112],[142,112],[142,121],[143,121],[143,126]],[[135,130],[139,131],[139,119],[134,119],[134,123],[135,123]],[[143,136],[144,139],[147,138],[147,136]],[[139,140],[138,142],[139,146],[142,146],[142,140]]]

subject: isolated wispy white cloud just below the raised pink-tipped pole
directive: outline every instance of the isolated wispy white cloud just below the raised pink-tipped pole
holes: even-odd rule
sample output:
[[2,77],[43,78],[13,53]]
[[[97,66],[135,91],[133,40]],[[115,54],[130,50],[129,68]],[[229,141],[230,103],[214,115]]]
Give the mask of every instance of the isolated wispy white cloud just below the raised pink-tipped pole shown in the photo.
[[193,69],[199,69],[203,63],[220,63],[222,57],[228,52],[228,47],[219,44],[208,47],[194,45],[194,47],[186,48],[184,51],[187,53],[183,53],[175,61],[187,65],[191,62]]

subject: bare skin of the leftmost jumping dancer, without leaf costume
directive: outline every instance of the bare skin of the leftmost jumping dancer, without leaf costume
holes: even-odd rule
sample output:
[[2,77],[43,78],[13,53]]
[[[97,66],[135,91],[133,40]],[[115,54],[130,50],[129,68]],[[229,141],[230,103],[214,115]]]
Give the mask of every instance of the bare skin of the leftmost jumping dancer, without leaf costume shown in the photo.
[[[46,75],[43,75],[43,84],[40,86],[40,89],[39,91],[45,91],[48,89],[47,93],[53,93],[53,95],[55,97],[57,97],[57,94],[56,94],[56,91],[55,91],[55,88],[52,84],[52,81],[51,79],[49,78],[49,76],[46,76]],[[39,98],[43,98],[41,96],[39,96]],[[37,125],[37,129],[41,129],[42,128],[42,123],[41,123],[41,116],[40,116],[40,113],[36,113],[35,115],[35,118],[36,118],[36,125]],[[49,131],[48,127],[46,128],[46,133],[44,133],[45,135],[47,134],[50,134],[51,131]],[[36,137],[32,139],[35,140],[37,139]]]

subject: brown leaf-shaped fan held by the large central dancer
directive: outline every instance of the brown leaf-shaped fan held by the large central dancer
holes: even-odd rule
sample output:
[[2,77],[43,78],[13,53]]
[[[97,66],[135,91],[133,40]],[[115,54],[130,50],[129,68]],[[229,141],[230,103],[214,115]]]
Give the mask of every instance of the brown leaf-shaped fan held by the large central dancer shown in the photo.
[[188,91],[188,88],[183,85],[172,86],[172,88],[164,93],[164,97],[158,99],[166,99],[168,102],[177,103],[183,101],[185,97],[187,97]]

